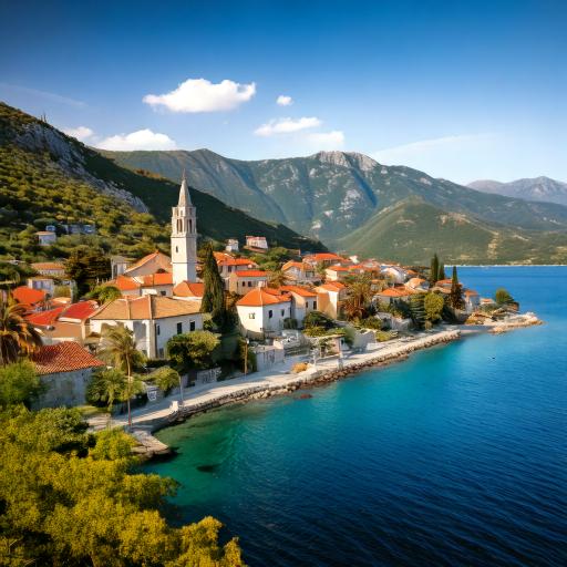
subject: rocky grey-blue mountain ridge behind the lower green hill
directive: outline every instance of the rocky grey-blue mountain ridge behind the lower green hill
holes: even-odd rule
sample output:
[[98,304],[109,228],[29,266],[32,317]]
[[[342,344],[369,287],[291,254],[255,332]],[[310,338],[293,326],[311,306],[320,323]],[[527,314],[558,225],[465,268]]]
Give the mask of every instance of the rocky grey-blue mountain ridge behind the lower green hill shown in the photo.
[[208,150],[105,152],[116,163],[181,179],[262,219],[333,244],[379,210],[416,196],[444,210],[526,229],[567,229],[567,207],[481,193],[357,153],[243,162]]

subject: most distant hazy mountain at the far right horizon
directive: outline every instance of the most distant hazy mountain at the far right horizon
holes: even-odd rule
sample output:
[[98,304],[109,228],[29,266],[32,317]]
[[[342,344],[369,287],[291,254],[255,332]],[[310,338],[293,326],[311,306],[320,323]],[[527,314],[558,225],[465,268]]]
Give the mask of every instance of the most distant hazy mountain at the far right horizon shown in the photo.
[[557,203],[567,206],[567,183],[550,179],[549,177],[516,179],[509,183],[481,179],[470,183],[467,187],[485,193],[496,193],[507,197]]

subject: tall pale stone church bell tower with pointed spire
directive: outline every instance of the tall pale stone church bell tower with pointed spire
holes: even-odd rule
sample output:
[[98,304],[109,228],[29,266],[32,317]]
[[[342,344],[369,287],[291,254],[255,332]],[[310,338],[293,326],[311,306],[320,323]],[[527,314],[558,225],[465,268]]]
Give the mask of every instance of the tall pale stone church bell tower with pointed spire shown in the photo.
[[179,188],[179,202],[172,210],[173,284],[197,281],[197,215],[190,203],[185,171]]

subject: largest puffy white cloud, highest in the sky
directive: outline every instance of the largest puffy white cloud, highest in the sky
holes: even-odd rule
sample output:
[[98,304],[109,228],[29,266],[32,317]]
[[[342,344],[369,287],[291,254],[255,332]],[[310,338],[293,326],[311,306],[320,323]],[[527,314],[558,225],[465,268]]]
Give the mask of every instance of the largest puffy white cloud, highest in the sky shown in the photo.
[[256,83],[240,84],[225,79],[212,83],[206,79],[187,79],[166,94],[146,94],[143,101],[151,106],[165,106],[172,112],[231,111],[256,94]]

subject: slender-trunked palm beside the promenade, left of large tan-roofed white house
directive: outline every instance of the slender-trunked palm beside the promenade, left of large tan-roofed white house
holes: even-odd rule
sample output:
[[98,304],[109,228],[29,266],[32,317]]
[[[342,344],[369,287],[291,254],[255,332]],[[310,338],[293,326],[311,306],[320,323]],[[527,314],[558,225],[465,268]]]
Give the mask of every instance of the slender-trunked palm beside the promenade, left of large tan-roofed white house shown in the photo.
[[128,406],[128,426],[132,426],[130,399],[136,393],[133,370],[144,362],[144,355],[136,349],[134,333],[123,324],[104,327],[102,330],[102,350],[100,355],[111,362],[114,368],[126,373],[126,402]]

